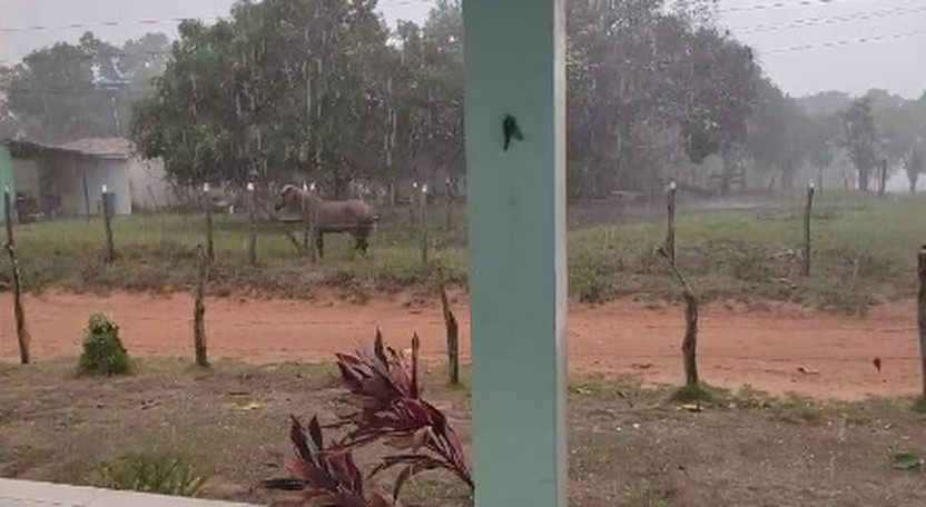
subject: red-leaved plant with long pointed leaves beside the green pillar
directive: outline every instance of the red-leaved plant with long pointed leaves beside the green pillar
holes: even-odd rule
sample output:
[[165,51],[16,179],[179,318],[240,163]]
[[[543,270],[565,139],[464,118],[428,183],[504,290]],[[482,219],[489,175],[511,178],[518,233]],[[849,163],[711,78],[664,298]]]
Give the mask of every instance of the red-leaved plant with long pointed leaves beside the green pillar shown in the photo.
[[[308,435],[293,417],[289,433],[295,449],[289,469],[292,478],[266,480],[268,489],[303,490],[296,505],[325,507],[397,507],[402,486],[427,470],[444,469],[473,489],[463,446],[446,416],[421,398],[417,377],[420,340],[412,338],[412,362],[383,345],[376,330],[371,351],[338,354],[341,378],[348,390],[347,401],[358,407],[328,428],[348,427],[344,438],[325,449],[322,426],[313,418]],[[364,496],[364,477],[352,457],[352,450],[382,441],[402,453],[385,456],[367,478],[401,467],[393,486],[392,499],[368,493]]]

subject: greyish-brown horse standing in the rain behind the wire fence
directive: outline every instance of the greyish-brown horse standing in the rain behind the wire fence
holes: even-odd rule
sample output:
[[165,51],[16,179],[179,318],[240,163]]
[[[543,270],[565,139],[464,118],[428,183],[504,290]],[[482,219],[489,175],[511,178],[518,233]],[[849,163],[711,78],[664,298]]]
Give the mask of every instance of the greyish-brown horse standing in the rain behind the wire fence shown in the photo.
[[303,218],[306,227],[306,247],[311,240],[308,238],[309,220],[314,213],[315,245],[318,249],[318,257],[323,256],[323,236],[329,232],[349,233],[354,237],[355,248],[366,254],[370,248],[370,231],[380,220],[380,217],[373,212],[373,208],[359,199],[329,201],[295,185],[286,185],[280,189],[279,199],[274,208],[277,211],[286,209]]

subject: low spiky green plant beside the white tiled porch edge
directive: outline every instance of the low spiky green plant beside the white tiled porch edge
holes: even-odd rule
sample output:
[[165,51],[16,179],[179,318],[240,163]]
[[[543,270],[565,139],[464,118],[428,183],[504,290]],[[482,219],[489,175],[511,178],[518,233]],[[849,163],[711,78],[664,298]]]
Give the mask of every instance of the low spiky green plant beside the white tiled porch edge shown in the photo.
[[191,465],[166,456],[130,455],[100,468],[100,486],[195,497],[206,479]]

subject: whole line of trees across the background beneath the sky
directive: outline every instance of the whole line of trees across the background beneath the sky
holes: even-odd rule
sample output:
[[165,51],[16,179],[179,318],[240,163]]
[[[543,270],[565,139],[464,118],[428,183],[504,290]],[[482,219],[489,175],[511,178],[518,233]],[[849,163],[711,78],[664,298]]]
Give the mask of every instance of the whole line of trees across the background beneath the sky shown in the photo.
[[[789,97],[716,13],[713,0],[568,2],[571,197],[669,179],[726,193],[745,173],[787,189],[840,157],[854,187],[886,163],[915,189],[926,95]],[[242,0],[178,32],[121,48],[87,33],[2,69],[0,133],[128,136],[183,185],[303,177],[343,196],[463,177],[459,0],[394,30],[375,0]]]

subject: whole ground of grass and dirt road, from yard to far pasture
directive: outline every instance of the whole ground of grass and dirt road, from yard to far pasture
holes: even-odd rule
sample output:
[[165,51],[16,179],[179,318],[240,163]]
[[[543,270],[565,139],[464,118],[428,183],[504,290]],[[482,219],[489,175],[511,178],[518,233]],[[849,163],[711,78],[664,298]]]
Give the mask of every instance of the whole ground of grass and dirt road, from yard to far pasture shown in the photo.
[[[683,321],[653,254],[661,217],[592,211],[571,210],[569,237],[570,505],[926,503],[922,474],[889,463],[926,453],[926,418],[910,410],[926,200],[822,201],[809,278],[799,275],[798,203],[682,208],[678,266],[705,302],[700,365],[719,389],[697,407],[669,400],[668,386],[683,378]],[[465,364],[465,222],[452,210],[447,230],[441,212],[430,210],[431,255],[457,286]],[[247,223],[216,215],[209,370],[191,366],[200,216],[117,218],[112,265],[102,261],[99,220],[17,226],[38,364],[12,364],[4,319],[0,476],[97,484],[100,467],[121,456],[165,455],[208,477],[204,496],[265,501],[256,485],[284,474],[288,416],[333,417],[342,391],[329,361],[368,345],[376,327],[397,347],[420,334],[427,396],[469,441],[467,390],[444,386],[434,271],[422,264],[412,217],[391,210],[368,257],[347,238],[326,238],[317,265],[262,227],[250,266]],[[8,276],[6,259],[0,272]],[[10,308],[8,292],[0,306]],[[120,325],[135,375],[76,375],[81,328],[97,310]],[[414,479],[404,499],[470,505],[441,474]]]

